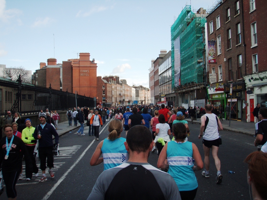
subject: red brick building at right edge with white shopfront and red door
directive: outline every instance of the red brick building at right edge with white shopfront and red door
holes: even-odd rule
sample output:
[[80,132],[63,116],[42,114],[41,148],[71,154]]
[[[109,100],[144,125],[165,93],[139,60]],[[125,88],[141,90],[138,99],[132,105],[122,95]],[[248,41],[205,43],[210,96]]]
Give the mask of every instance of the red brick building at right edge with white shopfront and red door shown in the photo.
[[267,102],[267,35],[266,35],[265,0],[243,0],[246,88],[247,92],[247,122],[254,122],[252,114],[257,103],[266,107]]

